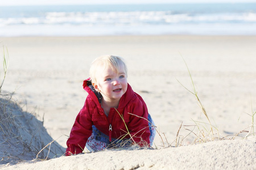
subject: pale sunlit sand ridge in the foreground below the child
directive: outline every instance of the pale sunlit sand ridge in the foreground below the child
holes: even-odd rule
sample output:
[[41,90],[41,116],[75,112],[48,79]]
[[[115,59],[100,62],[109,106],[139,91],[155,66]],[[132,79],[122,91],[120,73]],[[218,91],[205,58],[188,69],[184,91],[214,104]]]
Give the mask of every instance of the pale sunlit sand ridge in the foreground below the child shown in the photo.
[[3,169],[255,169],[256,138],[162,150],[107,150]]

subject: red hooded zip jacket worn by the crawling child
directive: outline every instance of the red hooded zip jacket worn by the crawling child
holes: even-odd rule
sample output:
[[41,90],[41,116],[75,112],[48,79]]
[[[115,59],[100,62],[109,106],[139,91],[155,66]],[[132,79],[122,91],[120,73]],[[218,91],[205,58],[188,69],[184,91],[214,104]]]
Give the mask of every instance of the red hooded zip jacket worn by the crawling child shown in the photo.
[[[149,146],[150,130],[148,128],[148,121],[144,120],[144,118],[147,119],[148,117],[148,111],[142,97],[136,94],[128,84],[127,91],[121,97],[117,109],[125,120],[124,124],[122,118],[114,108],[110,109],[108,117],[105,115],[104,109],[101,108],[97,96],[89,87],[90,85],[90,79],[84,80],[83,87],[88,92],[88,96],[85,100],[84,107],[77,115],[75,124],[71,129],[71,134],[67,141],[67,155],[69,155],[68,152],[72,154],[82,152],[87,139],[92,135],[92,125],[96,126],[102,133],[108,135],[111,140],[111,138],[118,139],[127,134],[125,133],[127,131],[126,124],[136,143],[143,146],[145,145],[144,142],[146,142]],[[139,117],[129,113],[136,114]],[[112,126],[112,131],[109,130],[110,126]],[[126,135],[126,138],[129,138],[129,135]]]

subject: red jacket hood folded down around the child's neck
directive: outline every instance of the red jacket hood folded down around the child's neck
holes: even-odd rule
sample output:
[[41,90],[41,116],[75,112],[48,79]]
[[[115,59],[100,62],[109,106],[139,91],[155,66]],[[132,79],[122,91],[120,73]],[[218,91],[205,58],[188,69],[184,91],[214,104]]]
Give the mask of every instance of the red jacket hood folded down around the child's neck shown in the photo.
[[[102,96],[100,92],[97,92],[92,86],[92,80],[90,78],[84,80],[82,87],[86,92],[88,92],[88,95],[92,97],[93,101],[101,107]],[[133,97],[135,96],[136,96],[135,92],[131,88],[130,84],[127,83],[127,90],[119,101],[118,109],[124,108],[127,105],[127,103],[129,103],[129,101],[133,99]]]

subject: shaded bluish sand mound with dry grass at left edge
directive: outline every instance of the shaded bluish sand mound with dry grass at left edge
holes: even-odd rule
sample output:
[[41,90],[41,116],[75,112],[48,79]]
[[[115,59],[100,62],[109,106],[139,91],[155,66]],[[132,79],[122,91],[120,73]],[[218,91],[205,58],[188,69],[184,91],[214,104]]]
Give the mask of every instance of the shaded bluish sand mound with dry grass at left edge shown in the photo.
[[[3,71],[1,87],[8,68],[7,48],[3,46]],[[55,158],[64,148],[54,142],[43,127],[43,122],[16,104],[13,93],[2,91],[0,87],[0,164],[16,164],[28,160]],[[42,150],[47,144],[50,146]],[[61,155],[59,155],[61,156]]]

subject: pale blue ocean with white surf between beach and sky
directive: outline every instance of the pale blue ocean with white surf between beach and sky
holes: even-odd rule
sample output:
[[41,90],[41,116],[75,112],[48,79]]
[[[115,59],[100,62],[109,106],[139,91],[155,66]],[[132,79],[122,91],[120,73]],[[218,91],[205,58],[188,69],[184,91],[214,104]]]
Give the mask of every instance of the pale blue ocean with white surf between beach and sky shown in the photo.
[[256,35],[256,3],[0,6],[0,36]]

